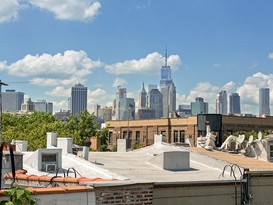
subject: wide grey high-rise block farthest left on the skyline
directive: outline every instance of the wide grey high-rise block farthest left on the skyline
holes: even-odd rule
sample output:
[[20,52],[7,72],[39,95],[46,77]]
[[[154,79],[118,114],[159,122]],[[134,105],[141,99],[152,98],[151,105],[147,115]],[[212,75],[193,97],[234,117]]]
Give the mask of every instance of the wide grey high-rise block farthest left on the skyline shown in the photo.
[[18,112],[21,110],[23,102],[24,93],[22,92],[16,92],[15,90],[6,90],[6,92],[2,92],[3,112]]

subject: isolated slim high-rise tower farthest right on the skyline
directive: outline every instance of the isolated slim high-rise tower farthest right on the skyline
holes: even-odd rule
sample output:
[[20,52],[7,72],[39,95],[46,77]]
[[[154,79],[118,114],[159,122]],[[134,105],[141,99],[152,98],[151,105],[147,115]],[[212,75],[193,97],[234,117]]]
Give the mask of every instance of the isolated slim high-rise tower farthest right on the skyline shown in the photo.
[[259,116],[270,116],[270,90],[269,88],[259,89]]

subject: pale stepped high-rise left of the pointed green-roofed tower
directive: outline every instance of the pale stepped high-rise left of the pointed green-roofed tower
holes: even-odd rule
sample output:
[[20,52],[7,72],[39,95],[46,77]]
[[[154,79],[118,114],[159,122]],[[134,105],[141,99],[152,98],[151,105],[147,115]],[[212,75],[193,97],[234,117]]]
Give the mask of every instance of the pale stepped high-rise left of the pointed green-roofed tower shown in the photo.
[[134,120],[135,100],[127,98],[126,88],[117,87],[116,99],[113,103],[113,120]]

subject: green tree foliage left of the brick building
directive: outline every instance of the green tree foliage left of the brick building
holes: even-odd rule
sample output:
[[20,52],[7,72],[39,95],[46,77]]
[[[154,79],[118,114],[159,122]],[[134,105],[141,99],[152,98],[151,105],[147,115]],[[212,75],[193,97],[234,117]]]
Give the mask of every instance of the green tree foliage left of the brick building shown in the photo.
[[45,112],[2,115],[3,140],[27,140],[30,151],[46,146],[47,132],[57,132],[60,137],[72,137],[75,144],[82,145],[84,139],[96,135],[97,124],[87,110],[81,113],[79,119],[69,116],[65,121],[57,120]]

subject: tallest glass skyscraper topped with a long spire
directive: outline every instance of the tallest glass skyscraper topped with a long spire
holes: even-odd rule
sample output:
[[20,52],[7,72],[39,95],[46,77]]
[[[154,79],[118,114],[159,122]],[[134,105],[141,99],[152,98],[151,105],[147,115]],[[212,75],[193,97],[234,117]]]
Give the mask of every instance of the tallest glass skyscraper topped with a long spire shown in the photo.
[[167,62],[167,51],[165,65],[161,68],[160,91],[163,96],[163,117],[169,117],[170,113],[176,111],[176,87],[171,76],[171,67]]

